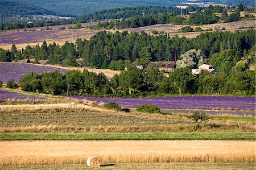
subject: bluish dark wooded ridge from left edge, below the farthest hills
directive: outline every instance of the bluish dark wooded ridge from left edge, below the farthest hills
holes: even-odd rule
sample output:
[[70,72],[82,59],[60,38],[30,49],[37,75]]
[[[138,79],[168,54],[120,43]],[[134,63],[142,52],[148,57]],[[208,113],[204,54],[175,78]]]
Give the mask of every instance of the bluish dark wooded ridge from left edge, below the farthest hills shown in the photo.
[[[137,7],[123,7],[123,8],[115,8],[110,10],[101,10],[97,11],[93,14],[87,14],[84,16],[80,16],[75,19],[55,19],[55,20],[35,20],[34,22],[14,22],[14,23],[6,23],[0,24],[0,30],[13,30],[20,28],[32,28],[32,27],[48,27],[48,26],[56,26],[62,24],[76,24],[76,23],[84,23],[84,22],[92,22],[97,20],[104,19],[116,19],[123,18],[127,19],[137,15],[143,14],[158,14],[158,13],[173,13],[173,14],[181,14],[181,10],[176,7],[160,7],[160,6],[137,6]],[[187,14],[184,10],[183,14]]]

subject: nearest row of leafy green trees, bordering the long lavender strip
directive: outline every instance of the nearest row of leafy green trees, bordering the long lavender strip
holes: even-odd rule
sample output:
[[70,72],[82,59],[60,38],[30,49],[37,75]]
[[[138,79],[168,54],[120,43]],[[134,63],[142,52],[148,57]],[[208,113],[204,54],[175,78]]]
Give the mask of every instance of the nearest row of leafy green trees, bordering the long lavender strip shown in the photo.
[[[232,53],[226,50],[225,53]],[[223,55],[223,54],[221,54]],[[177,68],[169,74],[158,68],[140,70],[127,68],[119,75],[108,79],[103,73],[92,73],[84,69],[58,71],[42,74],[28,73],[20,77],[19,86],[28,92],[55,95],[90,96],[90,97],[146,97],[168,96],[172,94],[255,94],[255,72],[249,71],[246,60],[241,60],[228,75],[217,72],[210,74],[202,71],[199,75],[191,73],[189,67]]]

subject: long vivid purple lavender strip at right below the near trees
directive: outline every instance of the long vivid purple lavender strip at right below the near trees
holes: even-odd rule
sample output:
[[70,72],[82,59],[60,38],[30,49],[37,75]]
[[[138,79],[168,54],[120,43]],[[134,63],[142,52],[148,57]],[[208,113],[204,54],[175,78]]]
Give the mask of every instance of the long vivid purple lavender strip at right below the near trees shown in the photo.
[[123,107],[137,107],[148,104],[162,109],[205,109],[205,110],[255,110],[254,97],[228,96],[182,96],[154,98],[92,98],[71,97],[99,102],[117,102]]

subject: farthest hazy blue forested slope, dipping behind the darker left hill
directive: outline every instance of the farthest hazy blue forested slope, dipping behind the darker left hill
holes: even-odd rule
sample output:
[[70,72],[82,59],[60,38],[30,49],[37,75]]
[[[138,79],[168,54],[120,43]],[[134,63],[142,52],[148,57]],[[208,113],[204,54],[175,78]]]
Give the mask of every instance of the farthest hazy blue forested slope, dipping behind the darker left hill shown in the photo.
[[[92,14],[100,10],[108,10],[113,8],[127,7],[127,6],[175,6],[181,5],[184,0],[16,0],[19,2],[32,3],[38,7],[42,7],[47,10],[55,11],[55,13],[65,15],[82,16],[86,14]],[[223,0],[207,0],[208,2],[224,3]],[[201,2],[201,1],[199,1]],[[225,0],[226,4],[232,6],[238,6],[239,3],[243,3],[245,6],[255,7],[254,0]]]

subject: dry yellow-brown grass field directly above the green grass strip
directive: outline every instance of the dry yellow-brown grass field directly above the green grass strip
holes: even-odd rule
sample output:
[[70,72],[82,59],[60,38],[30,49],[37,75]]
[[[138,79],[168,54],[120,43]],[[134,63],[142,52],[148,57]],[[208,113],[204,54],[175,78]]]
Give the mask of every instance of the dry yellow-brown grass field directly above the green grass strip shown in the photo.
[[[91,103],[0,105],[0,132],[46,133],[139,133],[139,132],[195,132],[187,114],[130,113],[92,107]],[[216,116],[201,122],[197,132],[255,132],[254,118]]]

